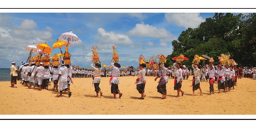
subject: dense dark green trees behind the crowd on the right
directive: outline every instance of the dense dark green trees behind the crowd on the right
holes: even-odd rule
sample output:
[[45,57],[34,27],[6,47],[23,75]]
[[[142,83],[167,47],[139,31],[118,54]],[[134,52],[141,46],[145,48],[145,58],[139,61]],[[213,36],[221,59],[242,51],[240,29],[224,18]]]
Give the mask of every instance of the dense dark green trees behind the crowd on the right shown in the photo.
[[[173,52],[167,56],[167,62],[173,64],[173,57],[181,53],[188,58],[184,62],[189,69],[194,56],[208,54],[213,57],[214,65],[219,64],[221,53],[230,53],[238,66],[256,64],[256,13],[233,15],[232,13],[215,13],[206,18],[197,28],[183,31],[178,40],[172,41]],[[203,61],[200,61],[202,64]],[[209,64],[208,60],[205,64]]]

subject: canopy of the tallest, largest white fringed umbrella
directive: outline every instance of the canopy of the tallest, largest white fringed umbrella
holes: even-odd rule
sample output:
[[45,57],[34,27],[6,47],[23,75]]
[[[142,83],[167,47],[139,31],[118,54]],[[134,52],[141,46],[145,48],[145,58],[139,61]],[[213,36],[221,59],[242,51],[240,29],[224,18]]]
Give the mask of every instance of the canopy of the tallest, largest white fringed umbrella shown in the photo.
[[72,42],[72,43],[80,41],[79,38],[77,37],[77,35],[72,32],[72,30],[70,32],[65,32],[65,33],[61,34],[59,36],[59,40]]

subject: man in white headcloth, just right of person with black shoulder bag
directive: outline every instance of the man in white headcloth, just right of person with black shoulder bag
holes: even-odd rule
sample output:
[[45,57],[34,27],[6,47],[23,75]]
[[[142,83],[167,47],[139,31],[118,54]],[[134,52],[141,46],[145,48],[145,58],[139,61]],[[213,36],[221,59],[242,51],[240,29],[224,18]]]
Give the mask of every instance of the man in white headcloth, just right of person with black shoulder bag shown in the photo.
[[34,79],[37,77],[37,82],[39,85],[39,91],[42,90],[42,81],[43,81],[43,76],[44,76],[44,67],[43,67],[43,63],[40,63],[40,66],[37,67],[36,69],[36,73],[34,75]]

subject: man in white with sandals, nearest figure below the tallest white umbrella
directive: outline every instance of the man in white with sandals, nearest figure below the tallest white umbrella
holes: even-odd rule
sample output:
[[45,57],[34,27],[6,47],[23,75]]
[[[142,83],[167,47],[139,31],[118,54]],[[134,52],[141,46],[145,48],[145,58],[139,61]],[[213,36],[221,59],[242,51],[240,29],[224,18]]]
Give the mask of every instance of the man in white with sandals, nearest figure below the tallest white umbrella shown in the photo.
[[59,92],[60,95],[57,97],[62,97],[62,91],[67,90],[69,92],[69,97],[71,97],[71,92],[68,89],[68,68],[65,66],[65,61],[60,62],[61,67],[59,68],[59,76],[57,80],[59,81]]

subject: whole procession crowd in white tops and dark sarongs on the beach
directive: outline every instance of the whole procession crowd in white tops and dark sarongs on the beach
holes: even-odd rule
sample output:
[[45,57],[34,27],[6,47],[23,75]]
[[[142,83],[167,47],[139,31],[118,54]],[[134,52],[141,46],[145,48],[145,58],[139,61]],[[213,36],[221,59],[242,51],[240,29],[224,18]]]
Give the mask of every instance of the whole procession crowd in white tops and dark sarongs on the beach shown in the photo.
[[[47,89],[51,82],[54,83],[53,91],[60,91],[60,95],[57,97],[62,97],[62,92],[66,93],[68,91],[69,97],[71,96],[70,85],[72,83],[72,78],[81,77],[92,77],[93,84],[95,87],[96,97],[102,96],[102,91],[99,87],[101,77],[110,77],[111,93],[113,93],[113,98],[116,99],[116,94],[119,94],[119,98],[122,96],[118,89],[118,83],[120,76],[137,76],[136,84],[137,90],[141,94],[140,99],[144,99],[146,94],[144,94],[146,78],[145,76],[156,77],[155,81],[160,78],[157,90],[162,94],[162,99],[166,99],[166,84],[168,83],[168,78],[174,79],[174,90],[177,90],[177,98],[180,97],[180,92],[182,96],[184,91],[181,90],[181,85],[183,80],[188,79],[189,75],[193,76],[193,82],[191,87],[193,88],[193,94],[197,89],[200,90],[200,95],[202,95],[202,90],[200,88],[200,82],[209,81],[209,95],[215,94],[213,84],[216,82],[218,84],[218,92],[223,89],[223,92],[230,92],[231,89],[235,89],[236,82],[238,78],[247,77],[255,79],[256,69],[251,67],[242,66],[237,69],[236,65],[222,65],[218,64],[214,66],[211,64],[192,64],[193,70],[188,70],[185,65],[181,63],[174,63],[171,67],[167,63],[162,63],[159,69],[149,69],[146,68],[146,64],[139,64],[139,70],[120,70],[120,64],[111,63],[113,70],[102,70],[102,64],[94,63],[91,64],[92,70],[77,69],[75,66],[65,64],[64,61],[60,62],[60,66],[43,66],[41,62],[40,65],[36,65],[34,62],[29,66],[28,63],[22,62],[21,66],[16,68],[16,62],[12,62],[11,66],[11,87],[15,87],[17,80],[21,80],[22,84],[25,84],[28,88],[36,89],[39,87],[39,91],[42,89]],[[80,72],[80,73],[79,73]],[[58,86],[59,85],[59,86]],[[33,86],[33,87],[32,87]],[[56,90],[55,90],[56,88]]]

